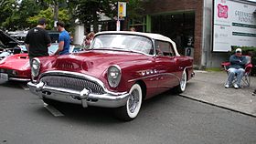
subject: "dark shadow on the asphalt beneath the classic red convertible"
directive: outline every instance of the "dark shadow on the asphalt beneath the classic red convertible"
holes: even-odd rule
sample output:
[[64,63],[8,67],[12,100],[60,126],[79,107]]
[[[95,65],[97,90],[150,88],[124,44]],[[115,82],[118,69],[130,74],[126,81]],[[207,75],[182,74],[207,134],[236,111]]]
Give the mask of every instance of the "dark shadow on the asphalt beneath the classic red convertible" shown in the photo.
[[[166,99],[168,99],[167,101],[172,101],[173,98],[176,98],[176,96],[170,90],[163,94],[155,96],[154,98],[144,100],[139,116],[130,122],[134,122],[135,120],[140,120],[140,116],[143,115],[142,113],[147,112],[149,110],[154,111],[154,108],[159,108],[159,105],[162,105],[163,103],[165,103]],[[48,115],[46,115],[46,117],[52,117],[52,118],[58,118],[58,119],[60,118],[61,120],[69,120],[75,123],[82,123],[82,124],[125,123],[125,121],[115,118],[113,113],[114,108],[97,108],[97,107],[82,108],[80,105],[61,103],[61,102],[57,102],[56,105],[54,105],[53,107],[58,109],[59,112],[61,112],[64,115],[64,117],[54,117],[48,111],[47,108],[44,108],[43,102],[42,102],[42,108],[37,109],[37,112],[45,113],[47,111]]]

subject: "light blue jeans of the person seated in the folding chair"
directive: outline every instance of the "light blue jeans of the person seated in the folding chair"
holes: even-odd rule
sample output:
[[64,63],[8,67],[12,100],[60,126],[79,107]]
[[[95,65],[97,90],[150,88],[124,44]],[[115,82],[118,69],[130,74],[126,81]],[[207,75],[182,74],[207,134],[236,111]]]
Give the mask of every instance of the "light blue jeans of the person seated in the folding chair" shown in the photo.
[[244,69],[243,68],[229,68],[229,77],[228,77],[228,84],[229,86],[232,84],[234,77],[237,77],[237,80],[235,83],[240,87],[240,80],[244,75]]

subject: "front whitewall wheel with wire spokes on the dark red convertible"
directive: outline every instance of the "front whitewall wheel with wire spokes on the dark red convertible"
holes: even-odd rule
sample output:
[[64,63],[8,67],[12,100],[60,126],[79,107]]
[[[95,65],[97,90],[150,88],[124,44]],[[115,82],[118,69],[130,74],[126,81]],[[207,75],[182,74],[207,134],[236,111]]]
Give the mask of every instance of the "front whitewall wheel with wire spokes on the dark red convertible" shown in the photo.
[[137,117],[143,100],[143,92],[139,84],[134,84],[129,94],[130,97],[126,105],[115,109],[115,116],[125,121],[133,120],[133,118]]

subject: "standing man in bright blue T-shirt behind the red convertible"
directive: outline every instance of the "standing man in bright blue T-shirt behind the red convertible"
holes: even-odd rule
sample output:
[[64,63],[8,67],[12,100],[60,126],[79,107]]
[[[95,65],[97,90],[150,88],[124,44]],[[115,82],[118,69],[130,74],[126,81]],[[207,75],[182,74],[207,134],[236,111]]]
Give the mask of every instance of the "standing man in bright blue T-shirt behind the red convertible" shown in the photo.
[[68,55],[70,45],[69,33],[65,30],[63,22],[57,22],[57,29],[60,32],[59,49],[56,51],[55,55]]

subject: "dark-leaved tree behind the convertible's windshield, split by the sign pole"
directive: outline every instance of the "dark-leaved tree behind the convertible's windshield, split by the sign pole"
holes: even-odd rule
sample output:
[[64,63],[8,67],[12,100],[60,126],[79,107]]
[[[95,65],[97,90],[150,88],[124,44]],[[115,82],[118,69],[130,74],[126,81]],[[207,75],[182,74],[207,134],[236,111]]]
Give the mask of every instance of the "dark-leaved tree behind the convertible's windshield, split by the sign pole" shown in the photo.
[[[98,30],[99,13],[103,13],[112,19],[117,19],[118,0],[69,0],[70,3],[77,5],[74,16],[80,19],[80,22],[86,26],[93,25],[95,31]],[[127,3],[127,16],[124,25],[133,18],[142,17],[144,8],[142,0],[129,0]]]

